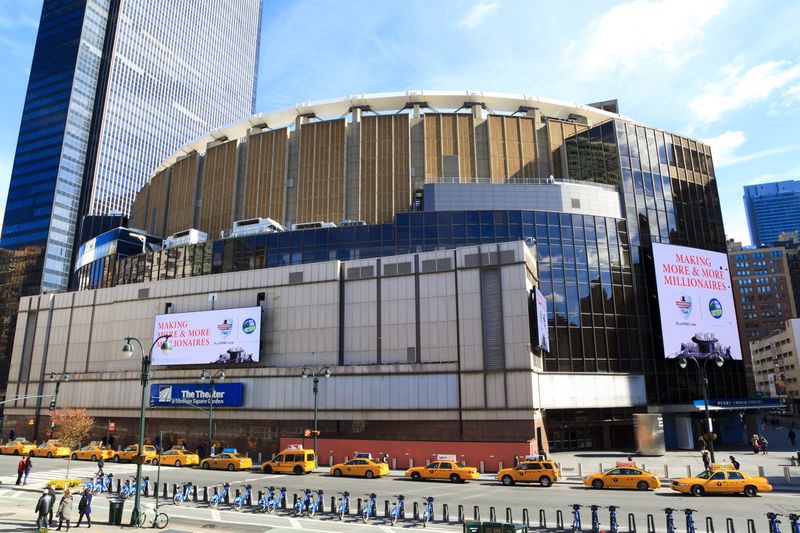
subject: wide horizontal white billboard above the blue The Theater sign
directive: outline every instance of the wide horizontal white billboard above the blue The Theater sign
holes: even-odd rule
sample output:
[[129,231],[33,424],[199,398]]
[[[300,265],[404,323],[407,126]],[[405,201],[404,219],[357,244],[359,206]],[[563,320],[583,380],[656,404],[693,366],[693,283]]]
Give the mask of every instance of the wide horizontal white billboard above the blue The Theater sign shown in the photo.
[[156,315],[153,340],[171,335],[172,351],[153,350],[154,365],[257,363],[261,308]]

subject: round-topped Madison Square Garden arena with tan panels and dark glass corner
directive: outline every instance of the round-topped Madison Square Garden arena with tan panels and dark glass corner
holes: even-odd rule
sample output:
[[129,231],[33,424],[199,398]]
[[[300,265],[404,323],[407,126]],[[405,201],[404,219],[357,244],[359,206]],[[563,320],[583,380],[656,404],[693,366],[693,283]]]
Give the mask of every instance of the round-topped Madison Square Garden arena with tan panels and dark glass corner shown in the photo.
[[[124,443],[141,390],[122,339],[157,332],[176,346],[154,358],[148,439],[206,440],[207,414],[170,394],[202,397],[201,371],[224,368],[214,439],[274,452],[311,427],[303,366],[327,366],[323,462],[344,439],[468,461],[487,442],[507,461],[630,449],[640,413],[689,447],[702,391],[678,355],[722,354],[710,397],[746,396],[711,151],[616,102],[408,92],[255,115],[164,161],[128,227],[84,243],[79,290],[22,299],[9,379],[47,395],[69,373],[59,405]],[[6,413],[42,437],[46,402]],[[721,440],[745,438],[739,411],[715,413]]]

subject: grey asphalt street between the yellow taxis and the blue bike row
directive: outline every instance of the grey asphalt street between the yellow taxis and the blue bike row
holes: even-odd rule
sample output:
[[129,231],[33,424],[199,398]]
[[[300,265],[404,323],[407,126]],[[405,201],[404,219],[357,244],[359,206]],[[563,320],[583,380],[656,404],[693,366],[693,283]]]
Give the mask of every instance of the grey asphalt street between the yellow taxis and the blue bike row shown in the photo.
[[[13,456],[0,456],[0,473],[6,475],[0,476],[0,481],[3,485],[13,484],[16,478],[16,465],[18,458]],[[93,463],[85,461],[74,461],[73,471],[77,476],[87,478],[96,470]],[[157,467],[145,465],[143,467],[144,475],[150,477],[154,481],[157,476]],[[135,466],[130,464],[112,464],[106,465],[106,471],[115,474],[115,477],[123,480],[133,476]],[[32,487],[40,487],[43,482],[53,477],[63,477],[66,473],[66,460],[62,459],[36,459],[34,458],[34,469],[29,479],[29,485]],[[227,471],[207,471],[197,468],[177,469],[173,467],[162,467],[160,474],[161,483],[167,483],[171,486],[173,483],[182,483],[191,481],[192,483],[203,486],[220,485],[221,483],[228,482],[231,484],[232,489],[242,489],[246,484],[252,484],[253,491],[263,489],[268,485],[275,485],[277,487],[287,487],[289,503],[291,504],[292,494],[299,493],[304,488],[322,489],[325,493],[326,509],[330,505],[330,497],[337,494],[339,491],[349,491],[351,494],[351,502],[353,512],[355,512],[356,498],[364,496],[365,493],[375,492],[378,495],[379,501],[379,514],[383,515],[384,500],[393,500],[393,495],[403,494],[406,497],[407,515],[411,516],[411,509],[413,502],[422,502],[423,497],[433,496],[436,499],[436,513],[437,517],[441,518],[441,504],[447,503],[450,508],[450,518],[455,521],[457,518],[457,506],[463,505],[466,509],[468,518],[472,517],[473,507],[480,508],[481,517],[488,519],[489,507],[494,506],[497,511],[497,517],[502,520],[505,517],[505,509],[510,507],[513,512],[513,518],[519,522],[522,518],[522,509],[527,508],[531,515],[532,520],[534,517],[538,519],[540,509],[545,509],[548,526],[555,525],[556,510],[561,510],[565,521],[571,520],[570,508],[572,504],[581,504],[584,506],[596,505],[618,505],[620,507],[620,522],[627,523],[628,513],[634,513],[636,516],[637,526],[639,528],[645,527],[646,515],[652,513],[656,520],[656,526],[659,529],[663,528],[664,515],[662,509],[665,507],[672,507],[676,509],[683,509],[691,507],[697,509],[696,521],[701,524],[705,517],[711,516],[714,519],[714,525],[717,530],[723,530],[725,527],[725,518],[733,518],[737,529],[746,531],[746,519],[753,518],[756,521],[758,530],[762,530],[766,526],[765,514],[767,512],[777,512],[781,514],[788,514],[789,512],[800,511],[800,493],[797,492],[773,492],[770,494],[759,495],[755,498],[747,498],[742,495],[732,496],[705,496],[702,498],[694,498],[691,496],[682,496],[668,488],[662,488],[657,491],[638,492],[638,491],[620,491],[620,490],[603,490],[597,491],[593,489],[584,488],[583,485],[578,483],[577,477],[574,475],[569,477],[566,482],[556,483],[550,488],[542,488],[538,485],[523,486],[515,485],[513,487],[504,487],[499,482],[493,479],[491,475],[484,475],[480,479],[470,481],[462,484],[452,484],[450,482],[413,482],[402,478],[402,472],[392,472],[389,477],[381,479],[355,479],[355,478],[334,478],[325,473],[314,473],[303,476],[295,475],[265,475],[257,471],[247,472],[227,472]],[[148,498],[150,500],[150,498]],[[168,502],[172,507],[171,501]],[[0,503],[0,505],[2,505]],[[197,506],[198,512],[195,517],[201,514],[205,516],[207,506],[202,504],[184,504],[180,509],[174,509],[176,513],[191,513],[191,509]],[[200,513],[202,510],[202,513]],[[168,512],[172,512],[169,511]],[[198,514],[199,513],[199,514]],[[223,510],[223,513],[227,511]],[[582,512],[584,524],[588,523],[589,513],[584,509]],[[212,513],[213,516],[213,513]],[[242,520],[246,517],[247,520],[268,520],[260,514],[253,513],[236,513],[235,516],[241,516]],[[282,520],[286,521],[286,518]],[[608,516],[607,511],[601,514],[601,521],[607,524]],[[676,523],[682,523],[683,516],[676,517]],[[289,522],[291,527],[296,524]],[[308,529],[311,525],[300,521],[301,528]],[[305,525],[303,525],[305,524]],[[283,524],[286,527],[285,524]],[[788,526],[788,523],[786,524]],[[332,527],[332,526],[331,526]],[[447,526],[444,524],[437,524],[437,527],[450,529],[455,528],[455,524]],[[313,529],[313,528],[312,528]],[[326,529],[326,528],[323,528]],[[326,530],[332,530],[327,528]]]

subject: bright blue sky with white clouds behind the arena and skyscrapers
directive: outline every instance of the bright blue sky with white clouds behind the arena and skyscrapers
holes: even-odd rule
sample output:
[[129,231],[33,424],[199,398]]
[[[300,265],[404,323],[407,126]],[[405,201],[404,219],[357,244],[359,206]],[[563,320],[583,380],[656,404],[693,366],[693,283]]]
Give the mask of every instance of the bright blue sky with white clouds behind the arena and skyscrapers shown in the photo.
[[[0,0],[0,217],[40,10]],[[257,110],[407,89],[617,98],[711,144],[725,231],[749,242],[742,186],[800,179],[798,20],[770,0],[264,0]]]

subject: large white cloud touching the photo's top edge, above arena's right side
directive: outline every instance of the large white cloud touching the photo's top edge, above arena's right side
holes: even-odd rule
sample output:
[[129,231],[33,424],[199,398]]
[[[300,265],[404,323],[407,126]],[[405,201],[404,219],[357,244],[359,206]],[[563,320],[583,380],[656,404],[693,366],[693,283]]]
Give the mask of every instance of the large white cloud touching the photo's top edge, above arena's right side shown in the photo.
[[727,0],[635,0],[606,11],[570,43],[580,78],[634,70],[643,65],[677,67],[697,52],[703,27]]

